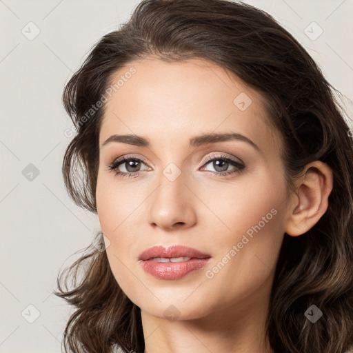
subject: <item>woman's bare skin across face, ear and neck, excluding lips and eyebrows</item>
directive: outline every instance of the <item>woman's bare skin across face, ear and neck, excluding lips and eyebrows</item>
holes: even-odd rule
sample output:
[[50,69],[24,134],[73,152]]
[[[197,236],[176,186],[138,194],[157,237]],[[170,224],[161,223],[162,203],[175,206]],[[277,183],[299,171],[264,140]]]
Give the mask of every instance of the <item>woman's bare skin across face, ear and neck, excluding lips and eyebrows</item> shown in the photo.
[[[105,103],[96,196],[112,273],[141,308],[145,352],[272,352],[264,322],[283,234],[303,234],[320,219],[332,172],[319,161],[307,165],[288,196],[281,135],[268,123],[261,94],[201,59],[148,57],[116,72],[114,81],[131,66],[137,72]],[[252,100],[243,111],[233,103],[242,92]],[[245,141],[189,146],[191,137],[206,132],[243,134],[261,152]],[[151,145],[103,146],[112,134],[137,134]],[[139,175],[121,178],[108,165],[128,154],[144,161],[135,165]],[[245,168],[204,163],[219,154],[240,159]],[[177,166],[172,173],[181,172],[174,181],[163,174],[170,163]],[[121,172],[128,168],[119,165]],[[222,176],[221,170],[239,172]],[[208,278],[271,210],[272,219]],[[186,245],[212,259],[182,279],[156,279],[138,259],[153,245]]]

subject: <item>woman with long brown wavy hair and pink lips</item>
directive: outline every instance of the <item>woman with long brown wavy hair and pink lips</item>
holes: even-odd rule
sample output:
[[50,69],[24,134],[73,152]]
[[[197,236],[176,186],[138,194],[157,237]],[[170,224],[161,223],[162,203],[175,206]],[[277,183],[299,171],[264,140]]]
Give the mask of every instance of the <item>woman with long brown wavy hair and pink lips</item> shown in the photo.
[[63,101],[65,185],[104,242],[58,278],[66,352],[352,347],[352,137],[272,17],[141,1]]

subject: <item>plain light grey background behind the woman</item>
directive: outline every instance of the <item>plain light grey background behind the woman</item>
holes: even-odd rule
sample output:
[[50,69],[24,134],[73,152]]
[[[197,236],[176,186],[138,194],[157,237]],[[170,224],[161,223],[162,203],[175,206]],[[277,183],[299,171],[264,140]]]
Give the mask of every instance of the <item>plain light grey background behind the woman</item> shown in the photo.
[[[352,114],[353,0],[245,2],[294,34]],[[77,208],[63,186],[64,132],[72,123],[61,92],[94,43],[137,3],[0,0],[0,352],[61,352],[72,309],[50,293],[59,268],[99,230],[97,216]]]

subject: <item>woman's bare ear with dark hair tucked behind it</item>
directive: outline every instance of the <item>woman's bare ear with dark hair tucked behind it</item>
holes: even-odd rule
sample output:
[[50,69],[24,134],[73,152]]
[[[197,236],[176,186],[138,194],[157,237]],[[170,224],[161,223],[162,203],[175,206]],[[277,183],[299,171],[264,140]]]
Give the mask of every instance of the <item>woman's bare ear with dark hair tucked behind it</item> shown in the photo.
[[310,230],[325,214],[332,187],[332,170],[326,163],[314,161],[307,164],[288,210],[285,232],[298,236]]

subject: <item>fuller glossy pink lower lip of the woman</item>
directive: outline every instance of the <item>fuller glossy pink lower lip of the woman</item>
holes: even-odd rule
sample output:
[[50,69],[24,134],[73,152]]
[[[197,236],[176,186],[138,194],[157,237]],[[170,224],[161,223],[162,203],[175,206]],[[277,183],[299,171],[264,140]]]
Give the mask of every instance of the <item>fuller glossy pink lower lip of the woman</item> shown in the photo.
[[143,270],[152,274],[157,279],[181,279],[188,273],[203,268],[210,258],[208,259],[191,259],[188,261],[180,262],[158,262],[145,260],[141,262]]

